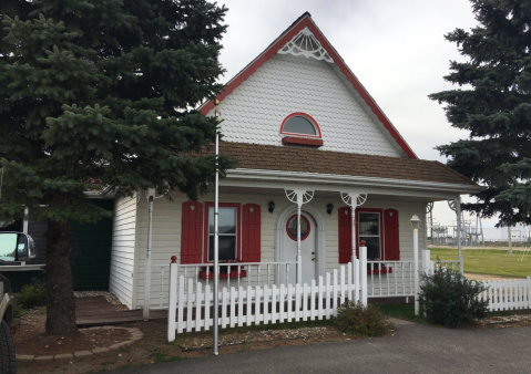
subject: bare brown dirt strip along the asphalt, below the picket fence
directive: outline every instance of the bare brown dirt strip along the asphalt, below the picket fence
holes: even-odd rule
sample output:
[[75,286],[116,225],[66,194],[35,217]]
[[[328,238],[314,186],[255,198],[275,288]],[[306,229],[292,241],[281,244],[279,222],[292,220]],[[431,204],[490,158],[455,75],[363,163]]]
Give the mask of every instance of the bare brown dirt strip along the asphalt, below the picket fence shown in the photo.
[[[211,347],[195,349],[192,351],[183,351],[182,345],[191,346],[194,342],[205,342],[212,344],[212,331],[200,333],[184,333],[177,334],[176,341],[173,343],[167,342],[167,321],[153,320],[149,322],[136,322],[131,324],[124,324],[121,326],[136,328],[141,330],[144,337],[134,342],[131,345],[122,346],[115,351],[110,351],[101,354],[94,354],[89,357],[73,357],[71,360],[54,360],[47,362],[24,362],[18,361],[18,373],[86,373],[99,372],[103,370],[112,368],[127,368],[137,365],[180,361],[192,357],[204,357],[212,355]],[[221,341],[233,342],[234,344],[219,346],[219,354],[228,354],[235,352],[263,350],[275,346],[290,346],[302,344],[314,344],[324,342],[339,342],[354,340],[351,336],[347,336],[341,332],[338,332],[331,325],[315,326],[312,333],[305,331],[302,328],[296,330],[288,330],[284,337],[278,340],[277,331],[274,331],[269,335],[269,330],[256,331],[257,336],[263,335],[267,341],[251,341],[245,339],[247,331],[242,329],[227,329],[219,331]],[[318,329],[320,330],[320,333]],[[297,332],[297,330],[302,330]],[[293,339],[289,339],[292,334]],[[239,335],[239,337],[238,337]],[[244,339],[242,339],[242,336]],[[385,337],[384,337],[385,339]],[[208,344],[206,344],[208,345]]]

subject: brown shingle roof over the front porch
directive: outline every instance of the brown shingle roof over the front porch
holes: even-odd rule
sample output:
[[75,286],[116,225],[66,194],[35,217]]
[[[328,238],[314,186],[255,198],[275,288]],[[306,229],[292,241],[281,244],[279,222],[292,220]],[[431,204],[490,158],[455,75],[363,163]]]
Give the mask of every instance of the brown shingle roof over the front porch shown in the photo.
[[423,159],[224,142],[219,153],[239,159],[237,168],[320,173],[477,186],[450,167]]

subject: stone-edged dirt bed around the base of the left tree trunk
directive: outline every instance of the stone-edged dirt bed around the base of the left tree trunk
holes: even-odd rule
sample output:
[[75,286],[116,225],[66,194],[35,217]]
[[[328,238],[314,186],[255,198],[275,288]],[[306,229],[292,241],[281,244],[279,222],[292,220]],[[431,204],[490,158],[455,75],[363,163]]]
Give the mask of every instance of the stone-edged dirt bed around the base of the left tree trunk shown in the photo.
[[17,354],[48,356],[78,351],[92,351],[130,340],[131,333],[123,329],[80,330],[78,336],[44,335],[47,316],[29,314],[21,324],[12,328]]

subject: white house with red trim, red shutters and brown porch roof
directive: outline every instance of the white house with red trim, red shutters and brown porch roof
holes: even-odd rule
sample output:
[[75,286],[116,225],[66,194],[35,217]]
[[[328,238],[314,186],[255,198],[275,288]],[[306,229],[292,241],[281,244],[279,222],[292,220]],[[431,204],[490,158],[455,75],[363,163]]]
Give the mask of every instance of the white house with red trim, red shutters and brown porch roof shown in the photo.
[[[413,258],[410,218],[425,217],[431,201],[459,202],[461,194],[480,189],[446,165],[418,159],[308,13],[217,100],[221,154],[239,160],[219,184],[219,259],[238,262],[222,270],[224,282],[265,282],[279,274],[293,280],[298,207],[304,282],[350,261],[353,218],[357,246],[367,242],[368,272],[398,277],[402,267],[404,277],[404,263],[410,267]],[[214,110],[213,102],[201,107],[206,115]],[[154,201],[152,307],[166,303],[172,256],[191,264],[183,268],[187,277],[212,277],[213,189],[198,201],[180,193],[172,198]],[[127,307],[141,308],[145,191],[116,200],[114,209],[110,290]],[[419,232],[426,232],[425,222]],[[426,248],[425,236],[419,246]]]

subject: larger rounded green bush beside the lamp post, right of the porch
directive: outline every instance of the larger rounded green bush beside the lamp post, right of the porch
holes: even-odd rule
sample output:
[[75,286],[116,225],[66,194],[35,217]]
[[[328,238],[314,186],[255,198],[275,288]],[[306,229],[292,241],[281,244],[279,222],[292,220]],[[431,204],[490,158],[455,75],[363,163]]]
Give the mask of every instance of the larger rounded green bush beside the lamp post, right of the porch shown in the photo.
[[429,323],[457,328],[487,315],[489,301],[476,300],[487,290],[482,282],[471,281],[440,263],[432,276],[422,273],[420,278],[420,305]]

